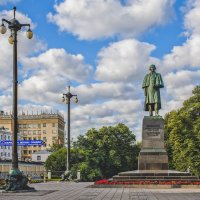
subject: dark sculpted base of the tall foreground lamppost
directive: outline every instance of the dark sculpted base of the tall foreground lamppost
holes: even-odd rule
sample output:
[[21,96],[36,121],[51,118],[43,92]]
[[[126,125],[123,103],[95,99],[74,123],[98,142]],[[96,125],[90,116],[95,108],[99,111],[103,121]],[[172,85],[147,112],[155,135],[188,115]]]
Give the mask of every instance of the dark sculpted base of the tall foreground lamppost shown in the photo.
[[34,190],[27,184],[28,178],[19,169],[11,169],[4,189],[5,191]]

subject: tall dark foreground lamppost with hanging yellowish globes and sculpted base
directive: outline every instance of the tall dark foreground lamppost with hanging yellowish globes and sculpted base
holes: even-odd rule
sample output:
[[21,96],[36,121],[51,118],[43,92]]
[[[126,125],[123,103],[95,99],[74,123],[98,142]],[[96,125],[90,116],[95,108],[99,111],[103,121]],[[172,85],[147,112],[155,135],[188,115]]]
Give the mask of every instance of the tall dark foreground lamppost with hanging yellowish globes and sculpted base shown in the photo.
[[27,180],[18,168],[17,155],[17,133],[18,133],[18,79],[17,79],[17,32],[24,26],[28,27],[26,36],[28,39],[33,37],[33,32],[30,29],[30,24],[21,24],[16,18],[16,7],[13,8],[14,18],[11,20],[2,19],[0,32],[5,34],[7,31],[4,23],[8,25],[11,35],[8,39],[13,45],[13,113],[12,113],[12,169],[9,172],[8,185],[6,190],[21,190],[27,188]]

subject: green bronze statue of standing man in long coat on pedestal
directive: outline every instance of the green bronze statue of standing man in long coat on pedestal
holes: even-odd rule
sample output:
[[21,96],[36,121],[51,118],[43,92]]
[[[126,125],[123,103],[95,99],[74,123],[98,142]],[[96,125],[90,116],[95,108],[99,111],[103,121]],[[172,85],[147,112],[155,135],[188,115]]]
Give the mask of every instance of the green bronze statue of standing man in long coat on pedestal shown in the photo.
[[149,115],[158,116],[158,111],[161,109],[160,88],[164,87],[162,76],[156,73],[156,66],[149,67],[150,73],[144,77],[142,88],[144,89],[145,104],[144,110],[149,111]]

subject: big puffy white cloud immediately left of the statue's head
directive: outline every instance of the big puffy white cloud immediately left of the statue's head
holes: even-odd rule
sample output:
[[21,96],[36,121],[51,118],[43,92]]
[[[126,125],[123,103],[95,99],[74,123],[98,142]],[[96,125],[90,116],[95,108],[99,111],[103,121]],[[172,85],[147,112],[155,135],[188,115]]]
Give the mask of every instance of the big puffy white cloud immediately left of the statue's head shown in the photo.
[[150,57],[154,45],[126,39],[110,44],[98,54],[96,78],[101,81],[138,81],[148,66],[159,60]]

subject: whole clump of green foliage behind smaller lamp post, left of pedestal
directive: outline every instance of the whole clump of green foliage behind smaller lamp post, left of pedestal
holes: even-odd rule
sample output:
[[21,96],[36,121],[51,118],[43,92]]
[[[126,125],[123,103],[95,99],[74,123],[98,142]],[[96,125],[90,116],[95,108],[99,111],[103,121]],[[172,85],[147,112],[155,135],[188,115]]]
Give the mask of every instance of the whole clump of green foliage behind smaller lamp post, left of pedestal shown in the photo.
[[[88,130],[72,145],[71,170],[74,176],[79,169],[82,180],[94,181],[137,169],[140,144],[135,141],[135,135],[121,123]],[[65,170],[65,161],[66,149],[61,148],[48,157],[45,166],[47,169]],[[59,166],[56,168],[56,165]]]

